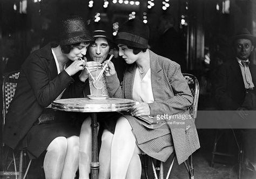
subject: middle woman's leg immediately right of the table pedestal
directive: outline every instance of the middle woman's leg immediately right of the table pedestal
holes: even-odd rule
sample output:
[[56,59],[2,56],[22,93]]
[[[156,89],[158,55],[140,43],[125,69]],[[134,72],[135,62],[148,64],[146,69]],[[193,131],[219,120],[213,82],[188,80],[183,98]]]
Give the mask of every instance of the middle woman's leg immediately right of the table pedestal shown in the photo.
[[104,130],[102,134],[102,146],[99,151],[99,179],[110,178],[110,159],[111,159],[111,144],[113,134]]

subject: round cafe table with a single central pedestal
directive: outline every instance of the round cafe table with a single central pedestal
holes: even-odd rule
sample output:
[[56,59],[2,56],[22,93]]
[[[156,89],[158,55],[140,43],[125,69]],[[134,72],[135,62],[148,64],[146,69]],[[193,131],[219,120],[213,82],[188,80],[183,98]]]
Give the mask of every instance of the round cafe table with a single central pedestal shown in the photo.
[[97,112],[127,111],[135,105],[131,99],[107,98],[92,100],[89,98],[59,99],[51,103],[52,109],[71,112],[91,112],[92,118],[92,162],[91,177],[98,178],[98,141],[97,141]]

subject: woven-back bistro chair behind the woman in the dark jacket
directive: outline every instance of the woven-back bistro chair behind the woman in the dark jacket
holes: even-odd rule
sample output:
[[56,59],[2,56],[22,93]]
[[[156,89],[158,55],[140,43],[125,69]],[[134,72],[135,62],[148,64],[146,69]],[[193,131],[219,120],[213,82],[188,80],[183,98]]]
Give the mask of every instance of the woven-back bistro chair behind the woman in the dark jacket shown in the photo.
[[[5,124],[6,120],[6,114],[8,113],[9,105],[12,101],[12,98],[14,97],[15,90],[17,87],[17,81],[19,77],[19,71],[12,71],[6,75],[4,75],[4,80],[3,80],[3,121],[2,121],[2,126]],[[2,128],[3,131],[3,128]],[[12,151],[8,146],[5,146],[4,143],[1,144],[2,149],[6,149],[5,155],[4,155],[4,173],[6,176],[5,178],[10,178],[10,175],[15,175],[16,179],[21,179],[23,176],[23,179],[26,177],[31,160],[29,161],[28,167],[23,175],[23,162],[24,158],[26,158],[26,153],[24,150],[19,150],[18,152]],[[9,151],[12,151],[12,159],[9,159]],[[24,160],[23,160],[24,159]],[[16,160],[18,162],[16,162]],[[18,170],[17,170],[17,163],[18,164]],[[10,170],[11,166],[14,166],[14,171]]]

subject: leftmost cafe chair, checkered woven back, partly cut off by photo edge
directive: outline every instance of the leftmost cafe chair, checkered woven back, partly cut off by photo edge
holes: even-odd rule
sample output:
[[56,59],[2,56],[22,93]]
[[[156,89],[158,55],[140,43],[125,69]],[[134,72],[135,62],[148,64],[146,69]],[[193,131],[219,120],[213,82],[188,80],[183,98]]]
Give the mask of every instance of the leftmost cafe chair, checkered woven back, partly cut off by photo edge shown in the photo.
[[[2,86],[2,94],[3,94],[3,109],[2,109],[2,114],[3,114],[3,121],[2,121],[2,127],[4,127],[5,120],[6,120],[6,114],[8,113],[9,105],[12,101],[12,98],[15,95],[15,90],[17,87],[17,82],[18,82],[18,77],[19,77],[19,71],[11,71],[10,73],[4,75],[4,80],[3,80],[3,86]],[[3,128],[2,128],[3,131]],[[4,143],[1,144],[2,149],[4,148]],[[8,151],[9,152],[9,151]],[[6,157],[8,157],[8,152],[6,153]],[[7,164],[4,169],[6,170],[6,178],[8,177],[8,174],[10,175],[15,175],[16,179],[21,179],[23,175],[23,157],[26,156],[26,153],[21,150],[18,152],[19,153],[19,169],[17,171],[17,165],[16,165],[16,155],[14,151],[12,151],[12,160]],[[6,159],[7,162],[7,159]],[[9,167],[11,166],[12,162],[14,163],[14,170],[15,171],[7,171]],[[25,174],[23,176],[23,179],[25,179],[26,175],[28,174],[28,170],[31,164],[31,160],[29,161],[28,167],[26,168]]]

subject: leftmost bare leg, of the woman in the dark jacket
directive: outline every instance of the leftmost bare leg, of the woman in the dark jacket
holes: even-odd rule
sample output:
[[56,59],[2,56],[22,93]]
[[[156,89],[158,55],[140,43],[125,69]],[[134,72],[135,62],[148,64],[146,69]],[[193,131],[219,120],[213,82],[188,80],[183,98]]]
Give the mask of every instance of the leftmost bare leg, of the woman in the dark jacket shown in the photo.
[[66,156],[67,141],[65,137],[57,137],[46,149],[44,157],[45,179],[60,179]]

